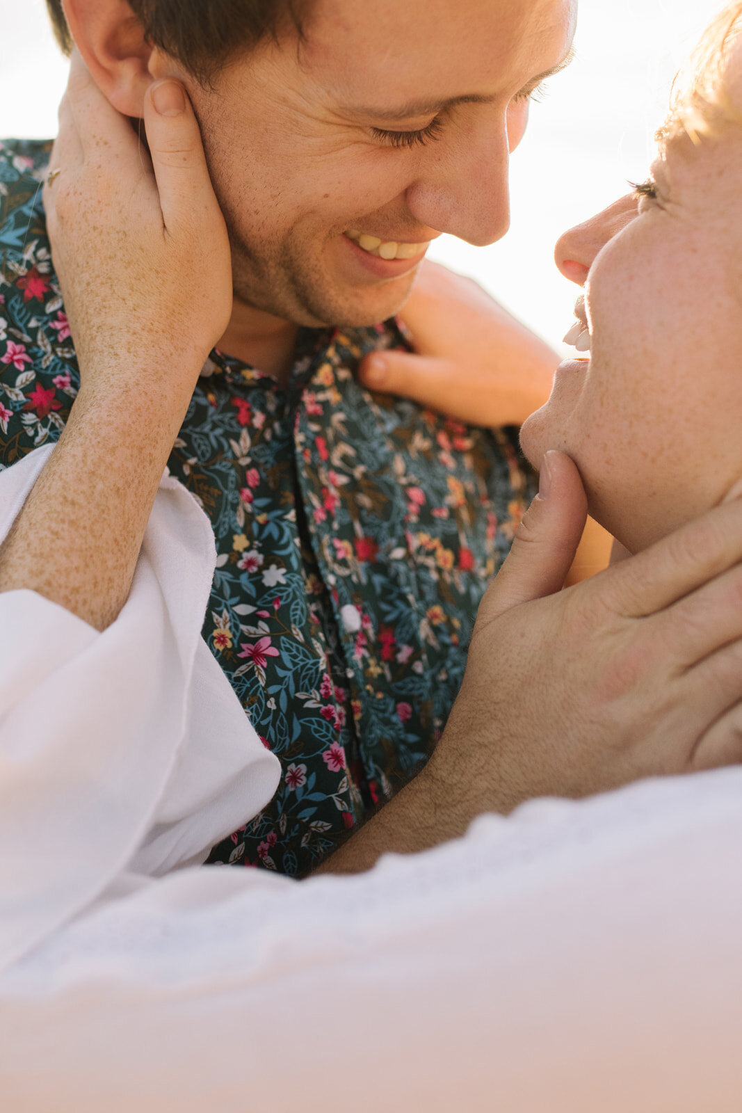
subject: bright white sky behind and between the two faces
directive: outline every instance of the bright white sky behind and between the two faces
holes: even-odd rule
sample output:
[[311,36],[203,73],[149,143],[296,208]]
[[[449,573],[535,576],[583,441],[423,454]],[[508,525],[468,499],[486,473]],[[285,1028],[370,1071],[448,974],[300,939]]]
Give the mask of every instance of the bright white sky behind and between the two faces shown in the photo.
[[[456,2],[456,0],[452,0]],[[431,256],[477,278],[552,344],[576,288],[553,264],[573,224],[643,180],[670,82],[722,0],[581,0],[577,58],[534,105],[512,162],[512,226],[499,244],[443,236]],[[0,135],[50,136],[66,78],[43,0],[0,0]]]

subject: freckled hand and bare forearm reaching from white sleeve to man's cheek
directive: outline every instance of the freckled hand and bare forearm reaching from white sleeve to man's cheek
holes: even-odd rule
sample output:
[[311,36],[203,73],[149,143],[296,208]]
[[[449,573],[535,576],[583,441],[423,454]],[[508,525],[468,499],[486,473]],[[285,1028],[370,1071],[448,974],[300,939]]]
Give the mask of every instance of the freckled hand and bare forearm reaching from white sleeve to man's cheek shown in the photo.
[[100,630],[129,594],[162,470],[231,312],[227,232],[178,82],[148,90],[145,125],[151,159],[72,58],[44,205],[81,386],[0,549],[0,591],[37,591]]

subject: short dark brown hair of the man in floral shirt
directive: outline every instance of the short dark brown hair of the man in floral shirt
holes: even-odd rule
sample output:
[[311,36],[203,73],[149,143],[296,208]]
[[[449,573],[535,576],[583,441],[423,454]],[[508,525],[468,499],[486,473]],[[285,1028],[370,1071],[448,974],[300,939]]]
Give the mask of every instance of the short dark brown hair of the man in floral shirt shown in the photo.
[[[277,37],[301,19],[310,0],[128,0],[147,41],[177,58],[189,73],[207,81],[236,55]],[[72,49],[62,0],[47,0],[55,35],[65,53]]]

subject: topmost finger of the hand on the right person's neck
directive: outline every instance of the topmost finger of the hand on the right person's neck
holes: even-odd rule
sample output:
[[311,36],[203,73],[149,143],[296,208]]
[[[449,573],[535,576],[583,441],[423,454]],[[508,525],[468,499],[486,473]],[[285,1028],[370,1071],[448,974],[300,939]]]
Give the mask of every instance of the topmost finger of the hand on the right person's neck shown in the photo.
[[[619,614],[654,614],[742,561],[742,499],[709,511],[596,577],[593,590]],[[606,585],[610,584],[609,600]]]

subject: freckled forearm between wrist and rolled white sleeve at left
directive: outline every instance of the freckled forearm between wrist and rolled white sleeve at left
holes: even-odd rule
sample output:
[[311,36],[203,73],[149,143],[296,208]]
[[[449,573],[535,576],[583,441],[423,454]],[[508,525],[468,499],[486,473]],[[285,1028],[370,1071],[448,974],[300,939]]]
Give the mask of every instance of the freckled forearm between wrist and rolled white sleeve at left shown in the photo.
[[180,392],[81,393],[0,548],[0,591],[28,588],[99,630],[129,594],[162,470],[187,408]]

